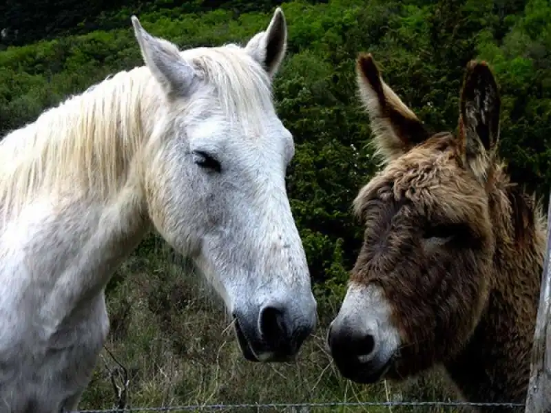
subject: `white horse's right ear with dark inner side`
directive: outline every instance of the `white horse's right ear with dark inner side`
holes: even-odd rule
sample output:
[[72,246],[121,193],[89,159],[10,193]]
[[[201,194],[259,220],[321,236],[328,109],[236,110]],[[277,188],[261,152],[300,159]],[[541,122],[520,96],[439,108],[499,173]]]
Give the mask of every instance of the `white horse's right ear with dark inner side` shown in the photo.
[[264,67],[270,77],[278,72],[287,50],[287,21],[281,8],[275,9],[268,28],[253,36],[245,50]]

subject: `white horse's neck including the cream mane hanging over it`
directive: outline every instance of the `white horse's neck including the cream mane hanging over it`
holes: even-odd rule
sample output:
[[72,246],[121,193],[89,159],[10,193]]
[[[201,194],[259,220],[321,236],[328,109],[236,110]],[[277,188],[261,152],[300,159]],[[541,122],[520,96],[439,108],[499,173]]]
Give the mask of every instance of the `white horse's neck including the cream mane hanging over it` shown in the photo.
[[[41,290],[25,303],[51,308],[43,313],[55,326],[72,322],[67,314],[101,293],[149,228],[140,153],[148,138],[144,117],[156,114],[139,105],[143,90],[109,96],[143,80],[143,72],[121,76],[0,142],[0,282],[14,274],[35,282]],[[8,298],[16,300],[21,286]]]

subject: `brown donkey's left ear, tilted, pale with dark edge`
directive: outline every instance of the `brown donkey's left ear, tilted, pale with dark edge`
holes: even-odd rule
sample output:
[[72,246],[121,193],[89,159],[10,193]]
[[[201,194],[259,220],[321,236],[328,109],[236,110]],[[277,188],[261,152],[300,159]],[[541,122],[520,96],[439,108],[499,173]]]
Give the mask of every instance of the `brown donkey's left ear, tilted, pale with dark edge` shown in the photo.
[[423,123],[384,83],[371,54],[358,56],[356,75],[374,143],[385,161],[397,158],[428,138]]

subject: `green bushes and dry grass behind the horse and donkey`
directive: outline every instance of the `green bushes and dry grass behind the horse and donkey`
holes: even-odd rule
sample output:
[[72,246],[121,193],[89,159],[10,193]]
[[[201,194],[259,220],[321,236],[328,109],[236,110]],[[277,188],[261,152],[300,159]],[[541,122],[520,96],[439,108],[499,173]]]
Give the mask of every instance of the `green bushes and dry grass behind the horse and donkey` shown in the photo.
[[81,409],[113,407],[113,382],[121,386],[123,368],[132,407],[456,399],[434,372],[403,385],[355,385],[337,374],[324,346],[361,240],[351,201],[377,169],[366,146],[370,130],[356,94],[355,57],[372,52],[386,81],[434,130],[457,124],[466,63],[489,61],[503,96],[501,155],[514,179],[546,202],[549,0],[5,0],[0,136],[68,94],[141,65],[131,14],[152,34],[194,47],[245,42],[278,5],[289,24],[289,54],[275,98],[295,136],[288,189],[320,304],[318,331],[297,363],[243,361],[218,300],[152,234],[107,288],[112,329]]

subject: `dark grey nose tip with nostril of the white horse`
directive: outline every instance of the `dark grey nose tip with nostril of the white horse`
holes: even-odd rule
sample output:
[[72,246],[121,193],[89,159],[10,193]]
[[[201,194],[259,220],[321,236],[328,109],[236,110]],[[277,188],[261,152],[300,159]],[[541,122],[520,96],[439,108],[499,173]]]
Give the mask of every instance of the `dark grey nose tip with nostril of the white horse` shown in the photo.
[[289,359],[315,328],[315,315],[293,314],[280,303],[267,304],[260,309],[258,330],[262,341],[271,350],[271,359]]

